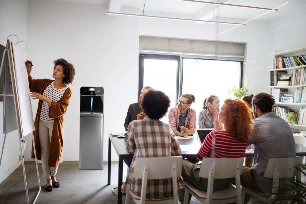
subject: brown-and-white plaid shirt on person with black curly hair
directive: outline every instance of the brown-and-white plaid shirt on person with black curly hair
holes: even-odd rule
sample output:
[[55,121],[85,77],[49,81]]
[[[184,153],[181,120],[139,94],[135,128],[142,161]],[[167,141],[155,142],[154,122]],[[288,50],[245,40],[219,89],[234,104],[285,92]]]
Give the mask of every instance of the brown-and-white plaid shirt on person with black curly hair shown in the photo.
[[[144,117],[143,120],[132,121],[128,128],[128,139],[126,150],[134,154],[129,172],[121,191],[132,190],[135,195],[140,196],[141,181],[133,177],[134,161],[137,157],[167,157],[181,155],[181,148],[175,138],[170,124],[162,121]],[[185,188],[181,176],[177,176],[178,195]],[[147,199],[165,198],[173,195],[172,180],[148,180]]]

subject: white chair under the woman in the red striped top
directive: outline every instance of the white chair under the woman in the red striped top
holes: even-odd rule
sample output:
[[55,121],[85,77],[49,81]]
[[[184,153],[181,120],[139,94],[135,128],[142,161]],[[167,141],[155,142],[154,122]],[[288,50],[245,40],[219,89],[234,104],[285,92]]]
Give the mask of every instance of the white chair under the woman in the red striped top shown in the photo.
[[[201,203],[230,203],[241,204],[240,175],[242,173],[244,157],[241,158],[203,158],[199,176],[208,178],[207,191],[194,187],[188,181],[185,184],[184,204],[188,203],[189,194]],[[238,188],[230,185],[221,191],[212,191],[214,179],[235,177]]]

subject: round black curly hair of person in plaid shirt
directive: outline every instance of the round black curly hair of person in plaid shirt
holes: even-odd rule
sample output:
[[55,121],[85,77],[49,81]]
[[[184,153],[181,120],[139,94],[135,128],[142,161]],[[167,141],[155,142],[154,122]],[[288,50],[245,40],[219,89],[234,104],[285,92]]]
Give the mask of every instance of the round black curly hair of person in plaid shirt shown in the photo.
[[170,99],[162,91],[148,91],[144,95],[141,106],[149,118],[159,120],[166,115]]

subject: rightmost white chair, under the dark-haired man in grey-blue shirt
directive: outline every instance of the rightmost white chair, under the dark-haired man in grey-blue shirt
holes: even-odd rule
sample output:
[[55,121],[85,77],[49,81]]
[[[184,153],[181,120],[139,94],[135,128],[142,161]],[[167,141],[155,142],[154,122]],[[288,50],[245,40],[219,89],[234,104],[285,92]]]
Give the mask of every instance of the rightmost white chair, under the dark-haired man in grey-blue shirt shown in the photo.
[[[281,178],[296,177],[296,180],[301,181],[301,172],[297,171],[294,166],[302,165],[304,156],[288,157],[288,158],[270,158],[263,174],[264,177],[273,178],[272,193],[278,191],[278,180]],[[256,191],[252,188],[242,186],[242,203],[244,203],[245,194],[248,193],[261,201],[267,201],[271,198],[265,197],[264,193]]]

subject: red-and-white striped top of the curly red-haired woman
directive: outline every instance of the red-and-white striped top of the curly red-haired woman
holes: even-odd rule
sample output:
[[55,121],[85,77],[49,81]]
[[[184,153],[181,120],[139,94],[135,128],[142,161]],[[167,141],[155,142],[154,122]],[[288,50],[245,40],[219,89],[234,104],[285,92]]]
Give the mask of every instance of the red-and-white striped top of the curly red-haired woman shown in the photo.
[[[213,145],[215,143],[215,145]],[[213,146],[215,146],[213,148]],[[247,144],[234,138],[230,133],[223,130],[213,130],[204,139],[198,158],[239,158],[244,157]]]

